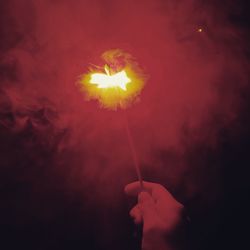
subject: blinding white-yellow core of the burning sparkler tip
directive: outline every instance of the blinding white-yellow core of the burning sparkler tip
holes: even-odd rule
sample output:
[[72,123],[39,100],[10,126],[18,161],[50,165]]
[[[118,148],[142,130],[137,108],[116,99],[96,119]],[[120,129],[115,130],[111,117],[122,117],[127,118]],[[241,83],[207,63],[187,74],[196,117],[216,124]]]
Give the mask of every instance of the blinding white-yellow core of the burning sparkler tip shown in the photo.
[[126,91],[127,84],[131,82],[125,70],[122,70],[113,75],[110,74],[108,66],[105,65],[103,73],[93,73],[90,76],[90,83],[96,84],[99,89],[119,87]]

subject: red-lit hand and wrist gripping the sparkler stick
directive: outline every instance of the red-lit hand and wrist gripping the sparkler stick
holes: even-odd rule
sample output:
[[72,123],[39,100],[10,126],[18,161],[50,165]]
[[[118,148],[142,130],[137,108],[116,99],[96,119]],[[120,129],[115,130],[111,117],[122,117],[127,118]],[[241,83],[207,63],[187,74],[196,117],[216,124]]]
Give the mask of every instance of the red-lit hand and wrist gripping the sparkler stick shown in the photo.
[[160,184],[133,182],[125,187],[125,193],[138,197],[130,215],[136,224],[143,223],[142,249],[170,249],[167,237],[181,220],[183,205]]

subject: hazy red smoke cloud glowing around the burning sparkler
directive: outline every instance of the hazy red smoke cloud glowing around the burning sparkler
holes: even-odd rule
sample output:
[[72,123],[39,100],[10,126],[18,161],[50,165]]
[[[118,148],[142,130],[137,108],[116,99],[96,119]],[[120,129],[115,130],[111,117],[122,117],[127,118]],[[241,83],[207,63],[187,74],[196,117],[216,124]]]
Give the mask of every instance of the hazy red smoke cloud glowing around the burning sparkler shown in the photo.
[[[123,112],[86,102],[76,83],[104,51],[120,48],[149,76],[127,110],[143,175],[183,201],[202,192],[209,200],[213,183],[216,199],[220,170],[208,159],[237,119],[248,80],[244,30],[230,23],[227,2],[2,3],[3,176],[11,166],[13,183],[80,192],[85,208],[119,207],[123,186],[136,179]],[[40,185],[41,178],[49,181]]]

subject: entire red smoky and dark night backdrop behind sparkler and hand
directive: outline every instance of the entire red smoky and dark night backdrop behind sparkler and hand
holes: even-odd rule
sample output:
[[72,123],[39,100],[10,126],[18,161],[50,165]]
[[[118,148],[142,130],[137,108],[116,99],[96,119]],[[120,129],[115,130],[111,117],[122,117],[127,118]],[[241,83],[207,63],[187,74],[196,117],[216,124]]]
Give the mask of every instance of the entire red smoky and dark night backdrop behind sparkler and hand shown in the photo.
[[147,75],[126,112],[143,178],[184,204],[192,250],[248,249],[247,0],[0,3],[0,248],[136,250],[121,110],[79,77],[119,48]]

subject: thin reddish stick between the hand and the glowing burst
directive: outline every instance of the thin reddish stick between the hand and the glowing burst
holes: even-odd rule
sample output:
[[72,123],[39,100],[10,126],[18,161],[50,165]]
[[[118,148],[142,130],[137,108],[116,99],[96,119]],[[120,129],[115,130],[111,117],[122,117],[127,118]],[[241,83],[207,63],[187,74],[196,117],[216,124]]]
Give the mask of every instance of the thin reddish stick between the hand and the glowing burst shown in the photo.
[[130,128],[129,128],[128,117],[127,117],[126,112],[124,112],[124,114],[125,114],[125,127],[126,127],[127,136],[128,136],[129,147],[130,147],[130,150],[131,150],[131,153],[132,153],[136,174],[137,174],[138,180],[140,182],[141,189],[143,189],[143,181],[142,181],[141,169],[140,169],[137,153],[136,153],[136,150],[135,150],[133,137],[132,137],[132,134],[131,134],[131,131],[130,131]]

